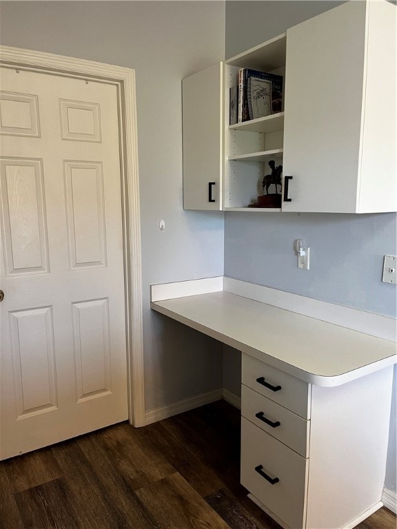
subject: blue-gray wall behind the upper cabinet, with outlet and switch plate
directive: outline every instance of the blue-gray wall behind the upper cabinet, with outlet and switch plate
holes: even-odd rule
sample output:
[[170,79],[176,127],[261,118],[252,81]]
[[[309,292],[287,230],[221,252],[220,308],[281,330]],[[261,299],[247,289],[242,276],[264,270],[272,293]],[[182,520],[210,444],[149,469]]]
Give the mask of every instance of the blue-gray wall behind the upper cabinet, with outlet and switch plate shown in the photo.
[[[226,58],[338,3],[227,1]],[[296,268],[296,238],[310,247],[309,271]],[[225,276],[394,317],[396,287],[380,280],[383,256],[396,251],[396,214],[225,214]],[[227,351],[223,372],[233,391],[241,371]],[[396,490],[396,372],[385,481],[390,490]]]

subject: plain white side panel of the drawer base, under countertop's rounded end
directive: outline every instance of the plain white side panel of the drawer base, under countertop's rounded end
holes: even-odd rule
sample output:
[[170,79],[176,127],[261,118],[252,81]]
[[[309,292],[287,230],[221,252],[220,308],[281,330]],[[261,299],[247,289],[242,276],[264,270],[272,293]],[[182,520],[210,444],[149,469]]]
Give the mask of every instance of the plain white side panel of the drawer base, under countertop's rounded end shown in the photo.
[[307,528],[345,528],[381,501],[392,380],[389,367],[335,388],[312,386]]

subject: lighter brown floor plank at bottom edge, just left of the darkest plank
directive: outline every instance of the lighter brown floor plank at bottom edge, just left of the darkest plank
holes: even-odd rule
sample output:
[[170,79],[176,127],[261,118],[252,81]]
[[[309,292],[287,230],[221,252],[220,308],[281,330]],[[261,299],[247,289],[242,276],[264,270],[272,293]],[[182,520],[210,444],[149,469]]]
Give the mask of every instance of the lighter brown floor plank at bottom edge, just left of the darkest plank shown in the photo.
[[161,529],[230,529],[179,473],[136,491]]

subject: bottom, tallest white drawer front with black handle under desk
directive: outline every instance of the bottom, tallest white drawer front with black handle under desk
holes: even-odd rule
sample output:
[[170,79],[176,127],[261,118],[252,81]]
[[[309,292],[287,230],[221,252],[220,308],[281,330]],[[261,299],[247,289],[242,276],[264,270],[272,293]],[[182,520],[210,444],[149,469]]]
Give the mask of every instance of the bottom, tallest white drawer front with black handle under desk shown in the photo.
[[308,461],[242,417],[241,484],[294,529],[305,520]]

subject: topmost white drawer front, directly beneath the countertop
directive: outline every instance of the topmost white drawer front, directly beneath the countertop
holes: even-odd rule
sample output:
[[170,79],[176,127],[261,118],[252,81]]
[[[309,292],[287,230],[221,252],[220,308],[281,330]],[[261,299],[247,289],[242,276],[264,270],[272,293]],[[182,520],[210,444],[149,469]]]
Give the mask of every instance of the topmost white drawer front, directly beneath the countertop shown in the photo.
[[292,377],[275,367],[256,360],[250,355],[242,356],[241,382],[268,399],[281,404],[303,419],[310,418],[310,391],[307,382]]

